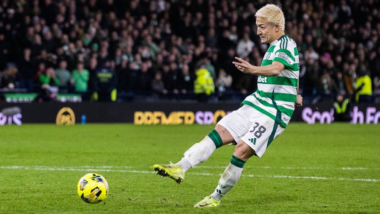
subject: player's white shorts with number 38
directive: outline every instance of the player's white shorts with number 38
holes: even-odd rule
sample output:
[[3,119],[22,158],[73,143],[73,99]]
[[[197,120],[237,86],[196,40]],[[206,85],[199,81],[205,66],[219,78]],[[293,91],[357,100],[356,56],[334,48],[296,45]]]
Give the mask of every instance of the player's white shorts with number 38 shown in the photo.
[[251,147],[259,158],[285,129],[269,116],[247,105],[223,117],[218,125],[225,127],[236,142],[242,140]]

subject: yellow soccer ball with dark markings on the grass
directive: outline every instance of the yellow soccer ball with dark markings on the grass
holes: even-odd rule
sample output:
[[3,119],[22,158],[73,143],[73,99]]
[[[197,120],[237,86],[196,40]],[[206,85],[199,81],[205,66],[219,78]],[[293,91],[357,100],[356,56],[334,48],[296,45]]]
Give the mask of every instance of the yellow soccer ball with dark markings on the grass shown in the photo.
[[99,174],[86,174],[78,182],[78,195],[86,203],[97,204],[107,198],[108,183]]

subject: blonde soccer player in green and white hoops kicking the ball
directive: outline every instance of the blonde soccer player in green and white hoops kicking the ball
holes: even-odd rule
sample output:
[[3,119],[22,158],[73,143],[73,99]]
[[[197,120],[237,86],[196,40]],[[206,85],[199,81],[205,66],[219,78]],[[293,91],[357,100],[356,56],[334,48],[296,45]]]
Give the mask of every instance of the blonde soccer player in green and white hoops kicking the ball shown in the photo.
[[244,163],[252,156],[260,158],[284,131],[294,106],[302,105],[302,97],[297,95],[297,46],[284,33],[283,11],[274,4],[267,4],[255,16],[257,35],[262,43],[269,44],[261,66],[238,57],[232,63],[243,73],[258,75],[257,91],[245,98],[238,110],[223,117],[203,140],[191,146],[182,160],[176,164],[153,165],[157,174],[180,183],[188,169],[207,160],[217,148],[237,142],[215,191],[195,204],[196,208],[219,206],[220,199],[237,183]]

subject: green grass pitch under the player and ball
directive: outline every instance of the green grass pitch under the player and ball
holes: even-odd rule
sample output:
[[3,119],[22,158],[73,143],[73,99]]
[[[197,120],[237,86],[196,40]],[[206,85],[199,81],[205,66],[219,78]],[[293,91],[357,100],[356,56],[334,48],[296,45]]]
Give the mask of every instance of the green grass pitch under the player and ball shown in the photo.
[[[192,206],[216,187],[234,146],[190,169],[180,185],[152,172],[178,161],[213,126],[86,124],[0,127],[0,213],[380,213],[378,125],[290,123],[212,210]],[[108,198],[77,195],[86,173],[103,175]]]

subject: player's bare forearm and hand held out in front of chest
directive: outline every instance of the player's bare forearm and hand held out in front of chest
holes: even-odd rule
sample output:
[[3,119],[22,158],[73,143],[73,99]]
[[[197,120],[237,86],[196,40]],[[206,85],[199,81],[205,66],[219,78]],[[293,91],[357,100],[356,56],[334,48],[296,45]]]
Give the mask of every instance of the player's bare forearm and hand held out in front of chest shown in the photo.
[[247,74],[255,74],[259,76],[278,76],[285,65],[278,61],[273,61],[270,65],[254,66],[242,58],[235,57],[238,62],[232,62],[238,68],[239,71]]

